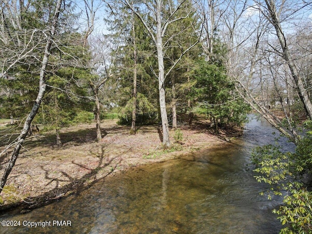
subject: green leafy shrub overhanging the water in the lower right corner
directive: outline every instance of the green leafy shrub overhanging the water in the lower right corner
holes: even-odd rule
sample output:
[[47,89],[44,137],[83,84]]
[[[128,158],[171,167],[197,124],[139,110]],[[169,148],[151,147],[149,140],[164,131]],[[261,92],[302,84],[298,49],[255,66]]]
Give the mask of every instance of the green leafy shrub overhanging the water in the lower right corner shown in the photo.
[[[284,204],[273,212],[281,215],[281,223],[290,225],[282,234],[312,233],[311,182],[304,177],[312,176],[312,136],[302,137],[294,153],[283,153],[278,145],[255,148],[252,159],[258,182],[271,186],[268,198],[284,195]],[[310,178],[311,179],[311,178]],[[286,191],[286,193],[285,193]]]

